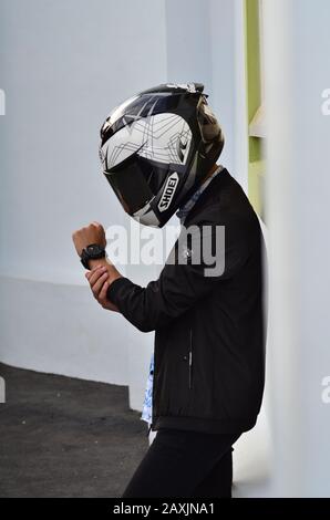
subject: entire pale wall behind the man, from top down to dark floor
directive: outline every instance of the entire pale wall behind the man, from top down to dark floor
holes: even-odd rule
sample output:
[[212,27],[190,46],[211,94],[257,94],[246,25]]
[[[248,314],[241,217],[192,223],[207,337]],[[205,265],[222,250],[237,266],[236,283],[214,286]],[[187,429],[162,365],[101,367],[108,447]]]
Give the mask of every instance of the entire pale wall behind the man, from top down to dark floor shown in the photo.
[[[153,334],[96,312],[71,233],[91,220],[128,223],[100,171],[97,145],[107,112],[134,92],[204,82],[227,133],[223,162],[234,165],[230,3],[1,2],[2,361],[128,384],[131,406],[141,409]],[[158,270],[124,273],[145,284]],[[93,332],[92,351],[81,327]]]

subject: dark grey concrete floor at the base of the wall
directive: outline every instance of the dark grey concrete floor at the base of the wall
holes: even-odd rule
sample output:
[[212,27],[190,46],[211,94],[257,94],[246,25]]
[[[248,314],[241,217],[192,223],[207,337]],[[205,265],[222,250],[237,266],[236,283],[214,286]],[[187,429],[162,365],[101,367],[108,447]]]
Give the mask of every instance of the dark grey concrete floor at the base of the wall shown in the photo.
[[121,497],[148,447],[126,386],[0,364],[0,497]]

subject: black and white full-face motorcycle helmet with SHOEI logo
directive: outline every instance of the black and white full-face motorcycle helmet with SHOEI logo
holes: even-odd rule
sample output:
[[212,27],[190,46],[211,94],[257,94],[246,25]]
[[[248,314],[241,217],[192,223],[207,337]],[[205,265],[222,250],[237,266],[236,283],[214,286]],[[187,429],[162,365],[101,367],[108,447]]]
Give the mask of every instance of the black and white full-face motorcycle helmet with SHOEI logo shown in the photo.
[[124,210],[162,227],[224,147],[200,83],[159,85],[117,106],[101,128],[103,173]]

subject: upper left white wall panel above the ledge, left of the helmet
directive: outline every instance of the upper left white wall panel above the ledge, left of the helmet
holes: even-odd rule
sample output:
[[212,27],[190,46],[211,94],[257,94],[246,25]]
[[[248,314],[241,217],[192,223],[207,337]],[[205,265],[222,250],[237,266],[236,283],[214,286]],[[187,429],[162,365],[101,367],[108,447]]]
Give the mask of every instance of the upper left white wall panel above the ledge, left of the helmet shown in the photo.
[[1,270],[80,282],[71,231],[122,219],[99,131],[132,92],[166,81],[164,2],[3,0],[1,10]]

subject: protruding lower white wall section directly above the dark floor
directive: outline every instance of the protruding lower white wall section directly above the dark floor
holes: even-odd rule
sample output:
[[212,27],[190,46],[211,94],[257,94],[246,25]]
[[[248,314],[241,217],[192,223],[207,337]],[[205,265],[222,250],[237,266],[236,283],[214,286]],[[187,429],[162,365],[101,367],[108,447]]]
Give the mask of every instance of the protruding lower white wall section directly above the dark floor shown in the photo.
[[101,311],[82,285],[3,277],[1,361],[127,385],[127,342],[117,316]]

